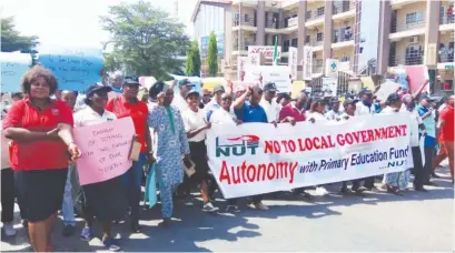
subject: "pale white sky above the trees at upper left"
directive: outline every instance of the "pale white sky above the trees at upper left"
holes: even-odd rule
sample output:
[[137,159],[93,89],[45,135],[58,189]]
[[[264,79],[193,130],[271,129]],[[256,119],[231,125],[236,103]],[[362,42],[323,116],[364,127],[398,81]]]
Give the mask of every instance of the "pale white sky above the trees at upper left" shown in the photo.
[[[137,0],[1,0],[1,17],[14,17],[16,29],[24,36],[38,36],[42,47],[101,47],[109,40],[99,17],[109,6]],[[174,0],[148,0],[156,7],[174,12]],[[178,0],[178,17],[192,34],[190,18],[196,0]]]

